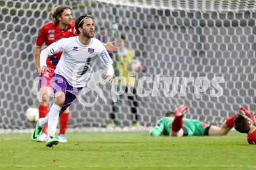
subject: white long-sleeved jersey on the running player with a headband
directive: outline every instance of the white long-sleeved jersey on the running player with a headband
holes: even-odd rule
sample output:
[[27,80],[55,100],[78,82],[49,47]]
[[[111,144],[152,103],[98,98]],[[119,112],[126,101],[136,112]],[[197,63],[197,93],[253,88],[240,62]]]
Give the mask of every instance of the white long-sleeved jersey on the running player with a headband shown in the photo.
[[105,46],[96,38],[91,38],[88,45],[81,44],[78,36],[62,38],[49,45],[47,51],[49,56],[63,51],[54,72],[65,77],[67,82],[74,87],[86,86],[88,81],[86,73],[92,72],[98,57],[104,66],[113,63]]

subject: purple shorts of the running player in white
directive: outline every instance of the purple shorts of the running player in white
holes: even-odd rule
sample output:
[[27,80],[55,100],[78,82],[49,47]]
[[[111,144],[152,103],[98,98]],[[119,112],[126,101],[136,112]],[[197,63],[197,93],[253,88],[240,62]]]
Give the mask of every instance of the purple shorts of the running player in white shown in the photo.
[[79,92],[83,88],[75,88],[67,82],[66,78],[60,74],[54,73],[52,76],[52,88],[54,89],[54,94],[56,92],[65,93],[65,103],[61,108],[61,111],[65,111],[67,107],[76,99],[76,96],[79,95]]

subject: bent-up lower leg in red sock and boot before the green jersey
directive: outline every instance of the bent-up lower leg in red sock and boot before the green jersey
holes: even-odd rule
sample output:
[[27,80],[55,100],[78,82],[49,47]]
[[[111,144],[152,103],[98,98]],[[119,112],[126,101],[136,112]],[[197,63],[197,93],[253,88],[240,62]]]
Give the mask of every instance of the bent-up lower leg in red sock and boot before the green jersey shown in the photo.
[[170,136],[183,136],[183,115],[187,110],[187,106],[184,104],[175,110],[175,118],[172,122],[172,132]]

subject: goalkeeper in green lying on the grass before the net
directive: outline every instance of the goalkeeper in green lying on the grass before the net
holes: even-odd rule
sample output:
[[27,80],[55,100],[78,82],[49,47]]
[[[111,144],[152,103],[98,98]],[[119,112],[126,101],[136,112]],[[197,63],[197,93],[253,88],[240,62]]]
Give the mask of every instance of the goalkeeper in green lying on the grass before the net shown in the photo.
[[[219,126],[207,125],[198,120],[183,118],[187,106],[184,104],[176,109],[175,112],[169,111],[162,117],[157,125],[151,130],[151,136],[220,136],[226,135],[234,126],[234,117],[227,118]],[[240,108],[241,110],[241,108]]]

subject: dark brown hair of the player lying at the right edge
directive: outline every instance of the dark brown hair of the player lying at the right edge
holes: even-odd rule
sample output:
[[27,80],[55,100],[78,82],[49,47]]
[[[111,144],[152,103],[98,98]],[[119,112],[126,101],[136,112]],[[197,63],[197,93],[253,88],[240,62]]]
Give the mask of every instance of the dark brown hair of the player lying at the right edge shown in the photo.
[[238,113],[236,117],[234,117],[234,128],[240,133],[248,133],[250,131],[248,122],[249,120],[246,117]]

